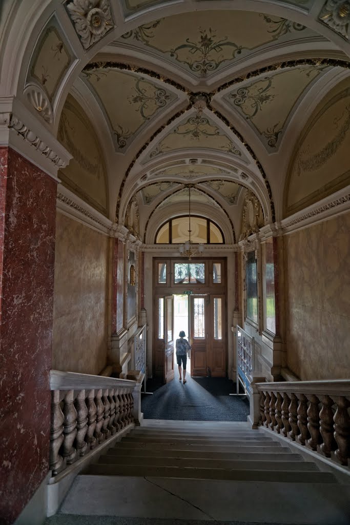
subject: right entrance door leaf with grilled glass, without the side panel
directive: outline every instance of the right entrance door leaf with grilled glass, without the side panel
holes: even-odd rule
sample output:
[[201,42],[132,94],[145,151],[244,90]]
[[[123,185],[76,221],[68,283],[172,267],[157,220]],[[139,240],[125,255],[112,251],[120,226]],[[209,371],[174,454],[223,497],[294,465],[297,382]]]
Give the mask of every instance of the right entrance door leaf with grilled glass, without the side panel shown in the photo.
[[206,376],[208,367],[208,297],[190,296],[191,375]]

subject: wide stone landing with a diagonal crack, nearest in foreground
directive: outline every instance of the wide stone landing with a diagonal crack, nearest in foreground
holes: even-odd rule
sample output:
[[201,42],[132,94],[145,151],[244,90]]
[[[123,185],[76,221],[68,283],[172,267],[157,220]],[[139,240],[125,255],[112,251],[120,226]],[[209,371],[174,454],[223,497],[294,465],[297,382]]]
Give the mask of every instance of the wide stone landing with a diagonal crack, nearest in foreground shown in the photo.
[[94,516],[93,523],[106,525],[114,523],[107,516],[137,517],[140,523],[167,518],[169,525],[175,520],[348,525],[348,501],[348,488],[339,484],[281,483],[279,477],[269,483],[203,479],[179,483],[176,478],[79,475],[58,516],[87,517],[75,523],[89,523],[88,517]]

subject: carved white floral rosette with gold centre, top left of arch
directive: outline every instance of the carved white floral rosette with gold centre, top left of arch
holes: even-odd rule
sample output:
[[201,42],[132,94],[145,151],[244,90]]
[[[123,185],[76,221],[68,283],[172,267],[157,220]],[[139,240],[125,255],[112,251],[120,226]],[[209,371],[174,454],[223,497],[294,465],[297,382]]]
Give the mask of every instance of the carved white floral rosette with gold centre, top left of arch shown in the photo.
[[85,49],[96,44],[114,25],[108,0],[72,0],[67,11]]

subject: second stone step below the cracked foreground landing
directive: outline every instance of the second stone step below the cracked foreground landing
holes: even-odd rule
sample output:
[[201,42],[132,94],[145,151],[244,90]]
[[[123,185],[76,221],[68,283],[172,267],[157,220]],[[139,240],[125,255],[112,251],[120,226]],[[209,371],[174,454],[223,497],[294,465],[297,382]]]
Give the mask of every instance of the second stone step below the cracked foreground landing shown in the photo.
[[211,458],[169,458],[149,456],[101,456],[98,465],[147,465],[153,467],[177,468],[219,468],[225,470],[299,470],[317,471],[315,463],[310,461],[269,461],[254,459],[211,459]]

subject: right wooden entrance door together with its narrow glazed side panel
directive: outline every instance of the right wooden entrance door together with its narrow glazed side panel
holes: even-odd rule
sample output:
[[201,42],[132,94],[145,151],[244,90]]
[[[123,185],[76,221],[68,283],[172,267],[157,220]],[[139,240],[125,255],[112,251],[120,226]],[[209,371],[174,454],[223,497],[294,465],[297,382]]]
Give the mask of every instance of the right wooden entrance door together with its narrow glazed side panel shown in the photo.
[[225,295],[191,296],[191,375],[226,376],[225,319]]

